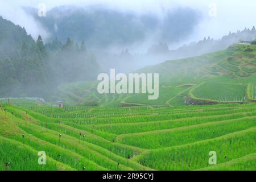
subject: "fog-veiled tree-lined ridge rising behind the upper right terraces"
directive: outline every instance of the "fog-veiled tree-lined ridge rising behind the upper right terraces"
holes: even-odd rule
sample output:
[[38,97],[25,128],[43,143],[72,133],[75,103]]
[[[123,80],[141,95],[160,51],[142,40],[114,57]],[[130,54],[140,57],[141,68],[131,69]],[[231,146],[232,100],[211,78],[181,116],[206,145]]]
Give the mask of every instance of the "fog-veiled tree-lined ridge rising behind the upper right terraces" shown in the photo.
[[118,54],[108,52],[98,52],[98,63],[107,72],[110,68],[115,68],[119,72],[133,72],[136,69],[147,65],[155,65],[166,60],[184,59],[187,57],[200,56],[205,53],[221,51],[230,45],[240,41],[253,41],[256,39],[255,27],[245,28],[243,31],[229,32],[221,39],[214,40],[210,37],[199,42],[191,42],[171,50],[166,42],[159,42],[148,47],[146,53],[131,53],[129,49],[123,49]]

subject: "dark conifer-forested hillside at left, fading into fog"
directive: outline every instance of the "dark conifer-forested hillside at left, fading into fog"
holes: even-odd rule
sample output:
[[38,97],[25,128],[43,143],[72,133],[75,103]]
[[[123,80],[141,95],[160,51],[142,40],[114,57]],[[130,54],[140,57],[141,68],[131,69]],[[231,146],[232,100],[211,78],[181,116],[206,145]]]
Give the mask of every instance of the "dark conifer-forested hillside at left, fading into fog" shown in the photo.
[[67,39],[44,45],[24,28],[0,16],[0,97],[48,97],[63,82],[90,80],[98,65],[93,56]]

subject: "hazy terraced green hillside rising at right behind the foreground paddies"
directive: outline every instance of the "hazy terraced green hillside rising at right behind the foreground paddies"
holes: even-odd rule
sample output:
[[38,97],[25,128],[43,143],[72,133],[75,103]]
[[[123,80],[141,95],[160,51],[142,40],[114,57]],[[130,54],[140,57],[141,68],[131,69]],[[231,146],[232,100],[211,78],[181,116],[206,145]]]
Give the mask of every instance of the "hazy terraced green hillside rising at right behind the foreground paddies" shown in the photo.
[[53,100],[109,107],[247,103],[255,96],[253,86],[247,90],[256,80],[255,55],[256,46],[236,44],[224,51],[166,61],[139,70],[139,73],[159,73],[158,100],[148,100],[146,94],[101,95],[97,93],[97,82],[60,86]]

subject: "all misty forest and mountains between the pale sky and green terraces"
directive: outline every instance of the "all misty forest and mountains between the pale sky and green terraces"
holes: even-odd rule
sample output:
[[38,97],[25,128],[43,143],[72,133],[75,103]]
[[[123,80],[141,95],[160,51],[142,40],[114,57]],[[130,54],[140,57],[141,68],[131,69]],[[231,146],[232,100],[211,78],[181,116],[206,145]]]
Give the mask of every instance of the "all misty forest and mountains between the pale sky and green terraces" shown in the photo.
[[[196,32],[205,14],[191,6],[164,7],[159,14],[104,4],[65,5],[53,7],[45,17],[38,16],[33,7],[23,6],[22,10],[35,27],[42,28],[37,31],[43,36],[35,38],[34,32],[27,31],[30,26],[22,28],[0,19],[0,93],[4,97],[47,97],[61,84],[94,81],[98,73],[108,73],[110,68],[135,72],[256,39],[255,27],[226,32],[220,39]],[[195,33],[205,38],[189,42]]]

